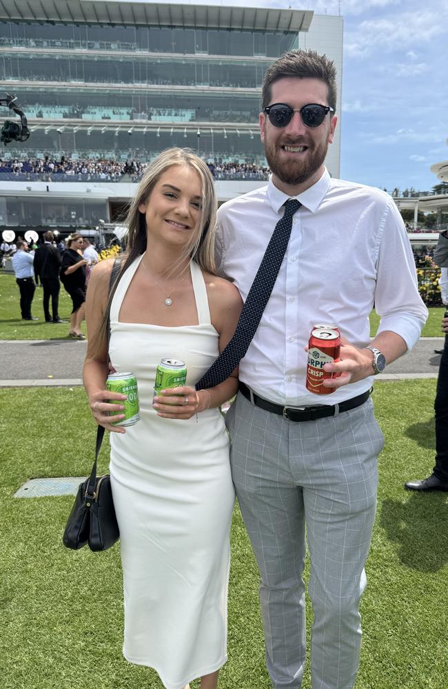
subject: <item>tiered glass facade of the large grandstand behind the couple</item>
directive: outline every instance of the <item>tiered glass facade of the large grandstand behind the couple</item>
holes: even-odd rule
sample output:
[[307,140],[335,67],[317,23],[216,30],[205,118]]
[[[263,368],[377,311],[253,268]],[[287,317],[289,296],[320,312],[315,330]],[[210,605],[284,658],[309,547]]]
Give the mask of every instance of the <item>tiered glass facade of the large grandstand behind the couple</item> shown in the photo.
[[264,164],[263,75],[297,46],[296,32],[0,22],[0,70],[31,131],[3,157],[147,160],[178,145]]

